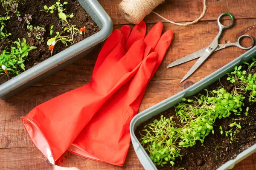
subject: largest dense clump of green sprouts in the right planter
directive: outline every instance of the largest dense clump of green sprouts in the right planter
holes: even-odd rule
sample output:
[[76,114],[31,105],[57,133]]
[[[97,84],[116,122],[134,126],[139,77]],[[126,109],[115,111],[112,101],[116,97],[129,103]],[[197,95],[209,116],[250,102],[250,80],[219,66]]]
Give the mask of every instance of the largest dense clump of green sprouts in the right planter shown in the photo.
[[146,135],[141,133],[141,144],[148,150],[149,157],[155,165],[163,166],[167,162],[174,165],[177,157],[182,158],[182,147],[192,147],[196,141],[202,144],[209,133],[214,133],[213,126],[216,119],[224,119],[232,113],[241,112],[243,99],[241,94],[233,96],[224,88],[208,91],[192,99],[182,98],[183,102],[175,107],[181,126],[171,118],[163,115],[160,120],[146,125]]

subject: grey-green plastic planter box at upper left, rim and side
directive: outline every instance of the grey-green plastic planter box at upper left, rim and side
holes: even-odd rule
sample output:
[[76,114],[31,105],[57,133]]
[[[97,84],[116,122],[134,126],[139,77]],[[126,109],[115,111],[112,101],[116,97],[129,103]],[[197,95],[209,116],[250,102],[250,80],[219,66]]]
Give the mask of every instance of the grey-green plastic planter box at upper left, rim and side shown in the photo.
[[108,38],[112,32],[113,23],[99,2],[97,0],[78,1],[101,30],[0,85],[1,100],[9,99],[29,86],[85,57],[97,47],[97,44]]

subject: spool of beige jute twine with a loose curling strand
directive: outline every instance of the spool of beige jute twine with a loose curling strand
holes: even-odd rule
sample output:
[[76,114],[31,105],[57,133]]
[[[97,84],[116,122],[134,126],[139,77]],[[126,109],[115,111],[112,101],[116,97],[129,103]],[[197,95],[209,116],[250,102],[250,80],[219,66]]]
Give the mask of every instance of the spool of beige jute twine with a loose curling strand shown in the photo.
[[154,8],[164,1],[165,0],[122,0],[119,5],[119,10],[121,15],[125,17],[125,20],[133,24],[140,23],[146,15],[153,12],[154,14],[157,14],[159,17],[163,18],[163,20],[178,26],[188,26],[198,22],[202,17],[204,17],[207,10],[207,0],[204,0],[203,12],[196,20],[186,23],[176,23],[153,11]]

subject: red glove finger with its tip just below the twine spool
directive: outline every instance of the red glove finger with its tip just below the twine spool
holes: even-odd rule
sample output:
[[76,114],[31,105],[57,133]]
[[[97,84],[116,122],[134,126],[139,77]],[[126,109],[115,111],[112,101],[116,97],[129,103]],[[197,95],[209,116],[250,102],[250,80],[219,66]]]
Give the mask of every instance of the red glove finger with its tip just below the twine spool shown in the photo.
[[130,36],[125,44],[125,53],[131,48],[131,45],[134,44],[137,40],[143,40],[146,34],[146,23],[141,21],[138,25],[134,26],[131,31]]

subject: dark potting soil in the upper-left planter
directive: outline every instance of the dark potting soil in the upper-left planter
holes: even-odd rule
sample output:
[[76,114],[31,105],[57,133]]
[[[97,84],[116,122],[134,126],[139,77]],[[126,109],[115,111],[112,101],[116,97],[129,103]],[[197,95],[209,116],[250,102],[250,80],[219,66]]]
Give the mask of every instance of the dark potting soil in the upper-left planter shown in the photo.
[[[52,6],[56,3],[57,0],[26,0],[26,3],[22,5],[23,1],[19,2],[18,11],[20,12],[21,16],[24,17],[25,14],[32,15],[32,22],[31,25],[34,27],[40,26],[46,29],[44,34],[44,42],[39,44],[35,37],[29,37],[28,33],[29,30],[26,28],[26,23],[24,23],[24,19],[20,22],[17,19],[15,14],[9,12],[9,15],[12,14],[9,20],[5,21],[6,23],[6,30],[8,33],[12,33],[11,36],[7,37],[2,43],[0,43],[0,54],[3,50],[10,48],[13,41],[17,41],[18,38],[22,40],[23,38],[26,39],[26,42],[29,46],[36,46],[37,49],[29,51],[28,59],[29,61],[24,62],[25,70],[37,65],[38,63],[48,59],[50,57],[50,51],[48,50],[49,46],[47,45],[47,40],[55,36],[57,31],[61,32],[63,29],[62,24],[59,23],[60,19],[58,17],[58,11],[54,11],[53,14],[46,13],[44,10],[44,6]],[[76,34],[74,37],[75,44],[84,40],[87,37],[95,34],[100,30],[100,28],[96,25],[96,23],[92,20],[92,18],[87,14],[87,12],[82,8],[77,0],[61,0],[60,3],[63,4],[64,2],[68,2],[68,4],[64,5],[64,8],[67,8],[65,14],[74,14],[74,17],[70,19],[70,25],[75,25],[76,28],[83,28],[86,27],[85,35]],[[0,4],[0,16],[6,16],[6,11],[3,6]],[[53,34],[50,35],[50,27],[53,27]],[[58,42],[54,48],[54,54],[59,53],[60,51],[65,50],[69,46],[66,47],[61,42]],[[23,70],[20,69],[20,73]],[[11,75],[14,77],[15,75]],[[8,77],[6,74],[0,75],[0,84],[6,82]]]

